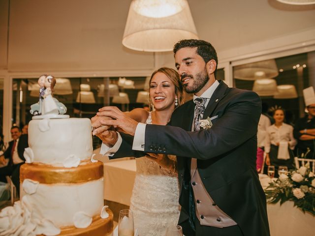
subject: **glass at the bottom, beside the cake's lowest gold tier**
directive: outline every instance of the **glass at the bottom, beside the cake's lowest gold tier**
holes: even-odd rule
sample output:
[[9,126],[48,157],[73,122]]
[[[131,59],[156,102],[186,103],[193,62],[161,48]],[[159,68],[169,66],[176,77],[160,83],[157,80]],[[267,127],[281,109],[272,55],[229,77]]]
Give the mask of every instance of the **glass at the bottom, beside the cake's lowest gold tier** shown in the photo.
[[133,236],[133,214],[129,209],[123,209],[119,212],[118,236]]

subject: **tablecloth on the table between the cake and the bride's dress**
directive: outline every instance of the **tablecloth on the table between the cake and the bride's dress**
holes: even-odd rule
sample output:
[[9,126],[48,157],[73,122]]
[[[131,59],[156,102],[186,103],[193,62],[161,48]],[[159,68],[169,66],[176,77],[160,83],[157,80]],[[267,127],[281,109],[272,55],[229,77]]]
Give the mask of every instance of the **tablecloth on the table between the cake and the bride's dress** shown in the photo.
[[135,159],[104,163],[104,199],[130,206],[135,176]]

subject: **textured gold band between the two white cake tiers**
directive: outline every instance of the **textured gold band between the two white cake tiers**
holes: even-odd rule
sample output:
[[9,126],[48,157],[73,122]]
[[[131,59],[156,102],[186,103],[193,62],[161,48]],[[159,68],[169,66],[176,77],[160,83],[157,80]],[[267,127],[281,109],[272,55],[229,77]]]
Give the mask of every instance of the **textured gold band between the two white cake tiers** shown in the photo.
[[20,169],[20,181],[30,178],[39,183],[82,183],[103,177],[103,163],[79,165],[78,167],[65,168],[44,164],[24,164]]

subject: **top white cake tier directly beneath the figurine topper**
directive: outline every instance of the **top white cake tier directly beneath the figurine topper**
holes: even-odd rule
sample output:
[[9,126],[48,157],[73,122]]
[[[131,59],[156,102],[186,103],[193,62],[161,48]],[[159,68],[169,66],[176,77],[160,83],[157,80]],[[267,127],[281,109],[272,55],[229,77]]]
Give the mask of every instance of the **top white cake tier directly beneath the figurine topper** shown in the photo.
[[88,118],[34,119],[29,123],[33,162],[64,166],[68,158],[90,159],[93,151]]

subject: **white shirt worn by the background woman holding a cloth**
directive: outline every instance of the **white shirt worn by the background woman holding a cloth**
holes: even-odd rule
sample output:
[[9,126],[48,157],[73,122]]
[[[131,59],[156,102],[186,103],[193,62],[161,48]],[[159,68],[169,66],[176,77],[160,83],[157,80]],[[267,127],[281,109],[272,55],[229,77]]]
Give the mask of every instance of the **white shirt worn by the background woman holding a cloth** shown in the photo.
[[279,128],[273,124],[267,128],[267,135],[265,140],[265,152],[270,152],[270,145],[277,145],[277,143],[288,142],[289,148],[294,149],[297,144],[293,137],[293,127],[289,124],[283,123]]

